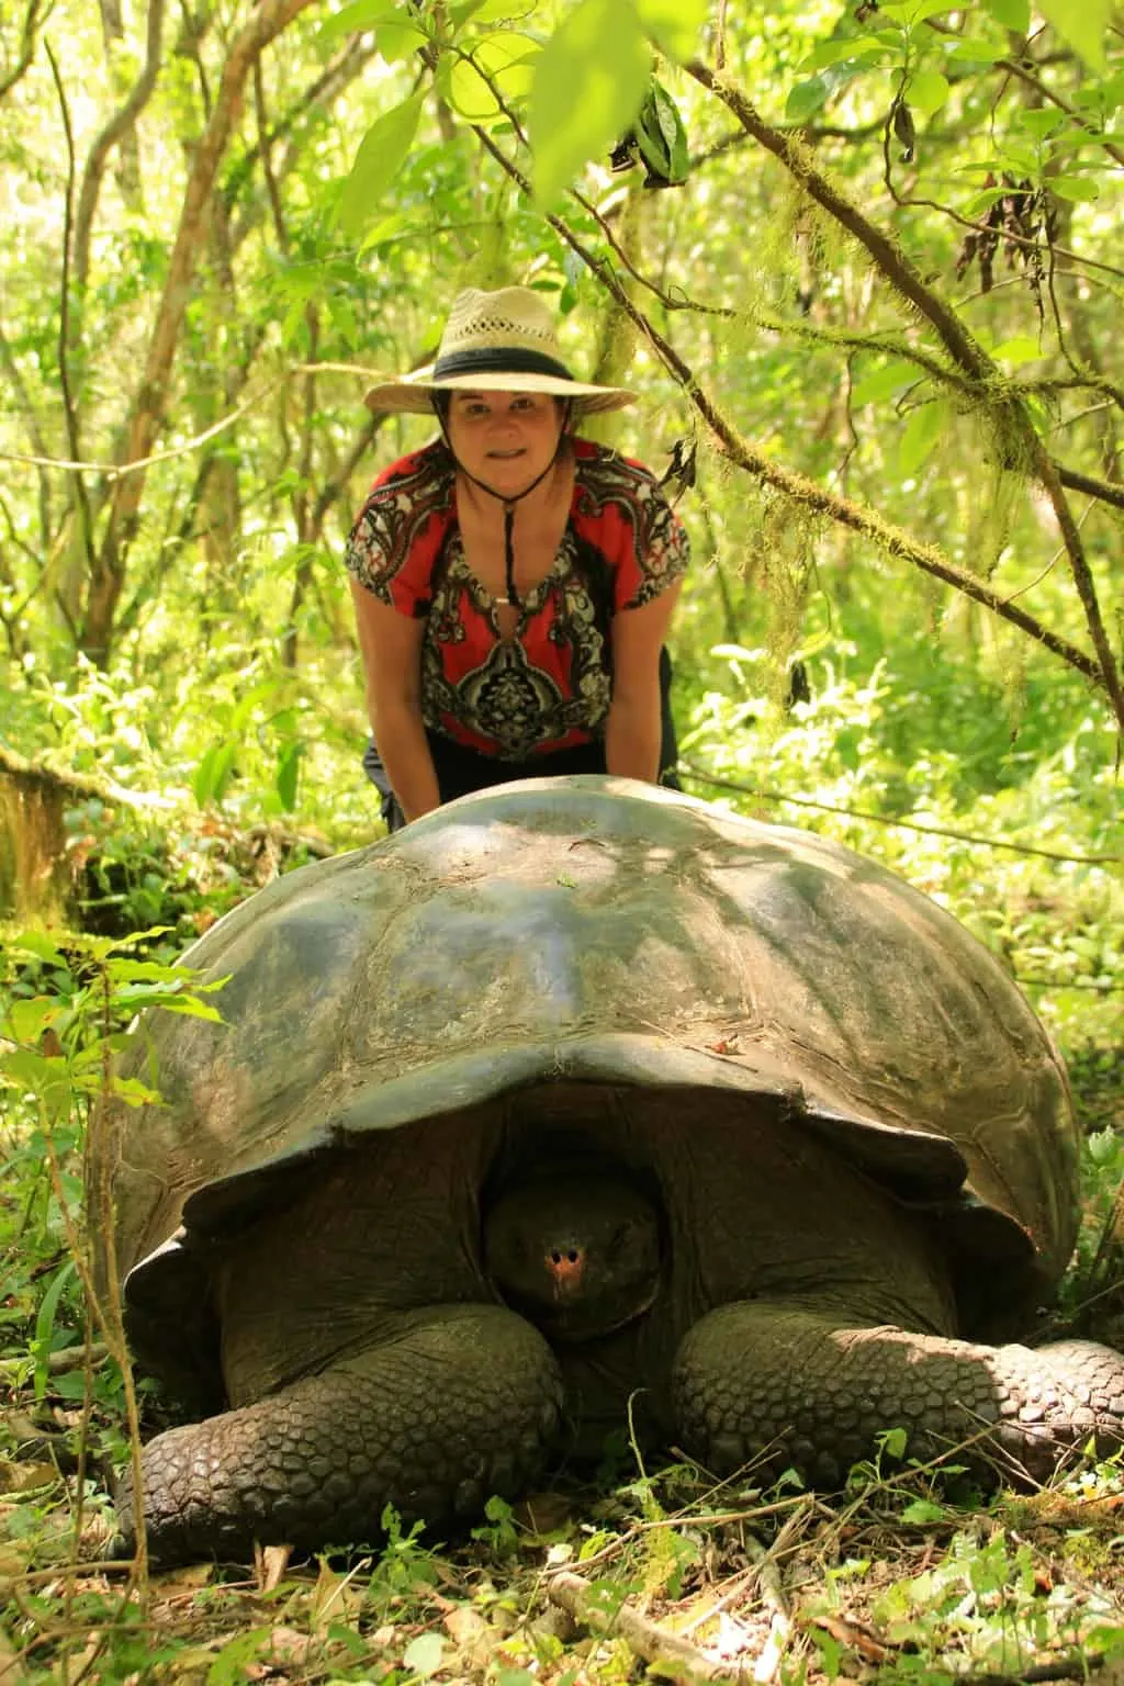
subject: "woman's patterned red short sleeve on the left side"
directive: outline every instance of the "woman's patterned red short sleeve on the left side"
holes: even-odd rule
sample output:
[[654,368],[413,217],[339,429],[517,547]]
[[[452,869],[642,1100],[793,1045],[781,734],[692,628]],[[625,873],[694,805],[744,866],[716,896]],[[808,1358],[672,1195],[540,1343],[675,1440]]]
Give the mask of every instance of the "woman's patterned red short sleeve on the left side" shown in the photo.
[[347,572],[388,609],[423,619],[453,516],[453,474],[440,445],[384,469],[356,518]]

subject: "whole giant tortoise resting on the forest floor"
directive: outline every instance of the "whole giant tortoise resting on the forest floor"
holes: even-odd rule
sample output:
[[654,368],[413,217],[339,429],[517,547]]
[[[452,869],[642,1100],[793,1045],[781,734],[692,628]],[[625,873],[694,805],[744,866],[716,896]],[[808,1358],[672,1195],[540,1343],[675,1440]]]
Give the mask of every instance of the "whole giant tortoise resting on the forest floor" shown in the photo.
[[[1077,1136],[1003,969],[881,867],[620,779],[463,797],[187,954],[116,1118],[158,1558],[371,1541],[526,1492],[629,1409],[730,1474],[880,1431],[1008,1470],[1124,1435],[1124,1357],[1008,1340]],[[757,1477],[755,1477],[757,1479]],[[125,1534],[135,1526],[128,1484]]]

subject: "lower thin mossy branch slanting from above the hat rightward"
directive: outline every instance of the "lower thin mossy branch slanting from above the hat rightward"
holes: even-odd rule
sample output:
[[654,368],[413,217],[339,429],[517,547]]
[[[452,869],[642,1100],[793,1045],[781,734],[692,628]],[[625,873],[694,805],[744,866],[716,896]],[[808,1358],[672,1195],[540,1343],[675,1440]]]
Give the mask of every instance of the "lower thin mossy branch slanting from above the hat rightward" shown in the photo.
[[[495,145],[487,130],[475,128],[475,135],[500,169],[507,172],[507,175],[527,197],[531,197],[531,182]],[[836,492],[829,492],[814,481],[806,479],[806,475],[795,474],[792,469],[784,469],[780,464],[765,457],[760,450],[755,450],[735,428],[725,411],[718,408],[713,396],[699,384],[691,366],[684,362],[679,352],[634,303],[612,266],[590,251],[585,241],[575,234],[563,217],[548,214],[546,221],[570,246],[570,250],[581,258],[585,266],[598,278],[602,287],[605,287],[607,292],[610,292],[622,309],[632,317],[662,364],[671,374],[674,374],[689,401],[720,440],[730,462],[745,469],[765,486],[775,487],[785,497],[790,497],[794,504],[812,509],[816,514],[827,516],[831,521],[838,521],[853,533],[861,533],[886,555],[908,561],[923,573],[932,573],[937,580],[944,580],[945,585],[955,587],[966,597],[972,597],[986,609],[991,609],[993,614],[999,615],[1003,620],[1009,620],[1013,626],[1020,627],[1021,632],[1026,632],[1028,637],[1033,637],[1035,642],[1041,644],[1052,654],[1060,656],[1060,659],[1070,668],[1075,668],[1079,673],[1084,673],[1085,678],[1094,679],[1104,688],[1104,671],[1090,656],[1080,651],[1075,644],[1070,644],[1068,639],[1060,637],[1057,632],[1050,632],[1048,627],[1045,627],[1033,615],[1026,614],[1023,609],[1004,602],[1004,599],[989,590],[982,580],[977,580],[974,573],[969,573],[966,568],[957,568],[955,563],[949,561],[949,558],[944,556],[934,545],[922,545],[903,528],[895,526],[891,521],[880,516],[876,509],[856,504],[849,497],[841,497]],[[1124,730],[1124,698],[1121,700],[1121,727]]]

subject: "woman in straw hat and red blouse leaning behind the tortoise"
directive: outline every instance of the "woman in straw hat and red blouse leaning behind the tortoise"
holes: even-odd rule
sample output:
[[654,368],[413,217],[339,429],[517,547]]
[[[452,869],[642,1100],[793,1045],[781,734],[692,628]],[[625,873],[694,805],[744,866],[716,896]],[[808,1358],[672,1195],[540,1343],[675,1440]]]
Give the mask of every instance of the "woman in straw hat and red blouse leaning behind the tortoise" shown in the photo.
[[647,469],[573,435],[629,403],[573,379],[524,287],[460,293],[433,368],[367,393],[442,435],[379,475],[347,545],[391,830],[509,779],[674,765],[688,538]]

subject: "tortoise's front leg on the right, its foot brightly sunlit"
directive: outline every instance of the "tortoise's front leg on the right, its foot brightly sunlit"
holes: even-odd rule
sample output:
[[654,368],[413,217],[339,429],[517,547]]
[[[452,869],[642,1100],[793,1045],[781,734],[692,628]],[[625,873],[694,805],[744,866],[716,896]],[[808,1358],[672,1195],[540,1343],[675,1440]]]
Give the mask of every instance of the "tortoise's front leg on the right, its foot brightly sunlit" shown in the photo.
[[888,1428],[922,1458],[986,1428],[1031,1475],[1065,1447],[1124,1442],[1124,1357],[1111,1347],[986,1347],[760,1302],[699,1318],[674,1394],[684,1445],[723,1475],[765,1452],[773,1472],[838,1484]]

